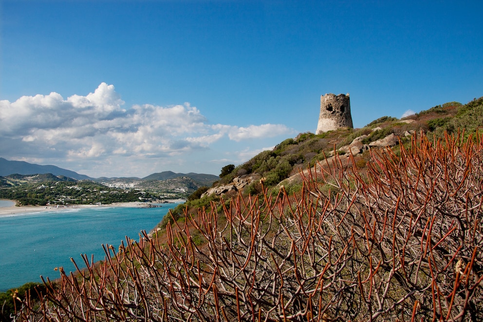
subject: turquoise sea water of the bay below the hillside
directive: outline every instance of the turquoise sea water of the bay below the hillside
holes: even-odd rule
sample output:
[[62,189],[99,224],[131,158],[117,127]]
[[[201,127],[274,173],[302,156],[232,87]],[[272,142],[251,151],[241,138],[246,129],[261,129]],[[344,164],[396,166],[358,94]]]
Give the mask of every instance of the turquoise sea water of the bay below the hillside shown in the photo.
[[56,279],[55,267],[74,271],[71,257],[84,267],[80,254],[102,260],[102,244],[117,248],[125,236],[138,240],[142,230],[149,232],[176,206],[53,209],[0,216],[0,291],[41,282],[40,275]]

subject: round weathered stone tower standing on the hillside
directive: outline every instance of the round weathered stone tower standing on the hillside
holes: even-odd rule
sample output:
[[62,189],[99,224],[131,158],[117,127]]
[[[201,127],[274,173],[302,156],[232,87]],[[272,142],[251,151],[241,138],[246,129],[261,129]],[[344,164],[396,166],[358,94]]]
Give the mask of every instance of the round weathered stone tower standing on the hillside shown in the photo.
[[349,93],[320,96],[320,115],[316,134],[343,127],[353,128]]

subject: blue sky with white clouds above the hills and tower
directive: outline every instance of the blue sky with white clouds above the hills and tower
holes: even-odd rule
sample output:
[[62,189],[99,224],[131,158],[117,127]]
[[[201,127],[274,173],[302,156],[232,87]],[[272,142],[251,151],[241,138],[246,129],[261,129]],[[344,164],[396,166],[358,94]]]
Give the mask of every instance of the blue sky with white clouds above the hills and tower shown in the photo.
[[481,1],[0,2],[0,156],[219,174],[315,132],[483,95]]

